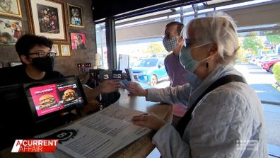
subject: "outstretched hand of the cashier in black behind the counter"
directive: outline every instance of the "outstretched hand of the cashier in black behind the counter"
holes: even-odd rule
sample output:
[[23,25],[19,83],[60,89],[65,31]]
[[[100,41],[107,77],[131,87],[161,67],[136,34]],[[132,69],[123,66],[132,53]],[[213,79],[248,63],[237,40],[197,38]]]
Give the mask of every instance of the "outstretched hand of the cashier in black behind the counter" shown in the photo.
[[105,80],[98,86],[100,93],[107,94],[119,89],[119,79]]

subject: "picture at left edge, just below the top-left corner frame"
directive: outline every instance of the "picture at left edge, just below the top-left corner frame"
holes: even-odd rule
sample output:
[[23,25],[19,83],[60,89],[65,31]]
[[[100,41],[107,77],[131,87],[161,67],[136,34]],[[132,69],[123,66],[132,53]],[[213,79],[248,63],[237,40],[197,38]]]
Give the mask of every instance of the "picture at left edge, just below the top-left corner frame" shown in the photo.
[[21,21],[0,18],[0,45],[15,45],[23,34]]

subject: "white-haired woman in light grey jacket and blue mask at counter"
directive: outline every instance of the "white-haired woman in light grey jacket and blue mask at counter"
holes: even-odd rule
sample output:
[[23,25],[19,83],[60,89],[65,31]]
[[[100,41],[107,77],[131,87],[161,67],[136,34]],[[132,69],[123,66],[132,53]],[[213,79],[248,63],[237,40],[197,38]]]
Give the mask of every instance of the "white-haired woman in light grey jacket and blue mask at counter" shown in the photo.
[[189,103],[189,110],[176,128],[151,113],[134,116],[134,124],[157,131],[152,142],[162,157],[268,157],[262,105],[233,67],[239,47],[233,19],[221,12],[195,18],[183,35],[179,57],[192,72],[189,84],[126,88],[147,101]]

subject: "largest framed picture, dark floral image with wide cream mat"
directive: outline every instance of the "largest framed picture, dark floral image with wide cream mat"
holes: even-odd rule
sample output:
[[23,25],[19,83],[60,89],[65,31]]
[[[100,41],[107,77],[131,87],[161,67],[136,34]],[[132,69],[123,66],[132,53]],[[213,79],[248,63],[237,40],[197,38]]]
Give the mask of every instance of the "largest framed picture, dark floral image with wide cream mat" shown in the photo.
[[27,0],[30,33],[52,40],[67,41],[64,3],[53,0]]

